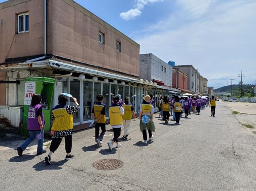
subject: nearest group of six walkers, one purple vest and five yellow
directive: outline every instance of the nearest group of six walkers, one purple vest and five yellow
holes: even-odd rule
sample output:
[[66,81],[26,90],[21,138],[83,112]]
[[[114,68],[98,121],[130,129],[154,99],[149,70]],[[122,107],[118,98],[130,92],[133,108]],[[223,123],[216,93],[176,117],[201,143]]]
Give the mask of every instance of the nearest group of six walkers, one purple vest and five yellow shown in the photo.
[[[73,113],[77,112],[80,108],[76,98],[72,98],[75,105],[69,106],[66,105],[68,97],[66,95],[60,94],[58,97],[59,104],[54,106],[51,111],[51,119],[53,125],[51,128],[52,142],[50,144],[49,154],[45,157],[45,163],[51,164],[52,154],[59,147],[61,140],[65,139],[65,150],[66,156],[65,160],[74,158],[74,155],[71,155],[72,149],[72,131],[73,131]],[[106,132],[106,105],[103,104],[103,95],[98,94],[97,102],[93,105],[92,117],[96,122],[95,124],[95,142],[98,147],[102,144],[103,136]],[[40,105],[42,100],[41,95],[34,94],[31,100],[31,105],[29,106],[28,119],[27,119],[27,129],[29,130],[29,138],[17,148],[19,156],[22,156],[23,151],[28,147],[28,145],[37,138],[37,155],[46,153],[43,150],[44,143],[44,128],[45,120],[44,114],[42,112],[42,106]],[[116,148],[120,148],[122,145],[119,142],[118,138],[121,135],[121,127],[124,126],[124,136],[123,140],[128,140],[129,136],[129,126],[131,124],[132,115],[133,118],[136,118],[132,104],[129,103],[130,98],[125,97],[125,102],[123,102],[118,96],[115,96],[112,101],[112,105],[109,106],[109,120],[110,126],[113,129],[113,139],[108,142],[108,147],[112,151],[114,143],[116,143]],[[139,126],[140,131],[143,134],[143,143],[147,144],[147,130],[149,134],[149,140],[153,140],[152,132],[155,132],[155,125],[153,122],[154,106],[151,104],[150,95],[143,97],[143,102],[140,104],[139,109]],[[148,120],[143,121],[146,116]],[[99,135],[99,129],[101,128],[101,133]],[[38,135],[41,136],[38,136]],[[39,138],[40,137],[40,138]]]

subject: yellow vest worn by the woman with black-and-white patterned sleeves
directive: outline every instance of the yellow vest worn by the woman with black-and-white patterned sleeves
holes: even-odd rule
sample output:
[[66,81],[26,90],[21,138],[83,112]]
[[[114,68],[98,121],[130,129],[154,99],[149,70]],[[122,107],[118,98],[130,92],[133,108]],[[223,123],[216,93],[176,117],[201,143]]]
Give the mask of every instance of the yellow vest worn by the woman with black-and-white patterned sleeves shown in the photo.
[[66,108],[54,109],[52,113],[55,119],[51,130],[61,131],[73,129],[73,115],[68,114]]

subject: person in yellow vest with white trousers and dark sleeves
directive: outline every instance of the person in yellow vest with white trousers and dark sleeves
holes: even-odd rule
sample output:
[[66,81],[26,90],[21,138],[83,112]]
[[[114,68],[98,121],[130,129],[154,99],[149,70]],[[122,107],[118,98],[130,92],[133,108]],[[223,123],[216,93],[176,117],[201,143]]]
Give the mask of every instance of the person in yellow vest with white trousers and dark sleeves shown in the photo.
[[122,116],[123,126],[124,126],[124,136],[122,138],[123,138],[123,140],[128,140],[127,137],[129,135],[128,131],[129,131],[129,127],[130,127],[131,120],[132,120],[132,114],[133,114],[134,119],[136,118],[136,116],[135,116],[132,104],[129,103],[130,98],[127,96],[124,98],[124,101],[125,101],[124,102],[125,109],[124,109],[124,114]]

